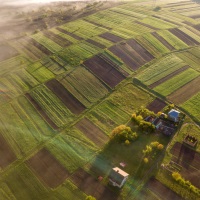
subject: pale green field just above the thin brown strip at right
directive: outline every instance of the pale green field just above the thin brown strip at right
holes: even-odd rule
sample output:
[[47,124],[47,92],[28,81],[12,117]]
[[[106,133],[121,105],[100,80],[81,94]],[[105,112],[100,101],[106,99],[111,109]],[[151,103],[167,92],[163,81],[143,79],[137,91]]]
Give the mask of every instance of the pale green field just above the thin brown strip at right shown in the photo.
[[155,64],[142,71],[137,78],[144,84],[150,85],[185,65],[186,63],[180,58],[171,54],[156,61]]

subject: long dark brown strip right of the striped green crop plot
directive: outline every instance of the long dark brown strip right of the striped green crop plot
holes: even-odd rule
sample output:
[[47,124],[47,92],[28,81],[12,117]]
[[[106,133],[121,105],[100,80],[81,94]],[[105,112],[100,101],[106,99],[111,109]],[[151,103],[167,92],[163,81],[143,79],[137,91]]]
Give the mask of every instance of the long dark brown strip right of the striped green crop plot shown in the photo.
[[45,84],[74,114],[80,114],[85,106],[76,99],[60,82],[52,79]]

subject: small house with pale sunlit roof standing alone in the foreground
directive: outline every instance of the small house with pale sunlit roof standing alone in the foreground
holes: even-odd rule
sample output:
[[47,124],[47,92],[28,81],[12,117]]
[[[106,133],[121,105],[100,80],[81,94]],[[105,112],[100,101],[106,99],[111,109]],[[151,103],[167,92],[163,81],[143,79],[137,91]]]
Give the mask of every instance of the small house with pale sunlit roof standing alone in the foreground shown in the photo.
[[129,174],[118,167],[112,168],[108,178],[109,183],[113,186],[121,188],[126,182]]

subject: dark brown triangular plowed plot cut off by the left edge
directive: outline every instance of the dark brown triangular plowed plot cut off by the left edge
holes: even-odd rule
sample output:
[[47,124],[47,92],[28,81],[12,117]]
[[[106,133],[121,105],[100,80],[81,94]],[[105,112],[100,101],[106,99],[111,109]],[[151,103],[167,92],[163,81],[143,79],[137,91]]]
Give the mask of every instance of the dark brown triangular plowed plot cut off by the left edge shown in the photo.
[[9,164],[16,160],[16,156],[10,148],[7,141],[0,134],[0,167],[1,169],[6,168]]

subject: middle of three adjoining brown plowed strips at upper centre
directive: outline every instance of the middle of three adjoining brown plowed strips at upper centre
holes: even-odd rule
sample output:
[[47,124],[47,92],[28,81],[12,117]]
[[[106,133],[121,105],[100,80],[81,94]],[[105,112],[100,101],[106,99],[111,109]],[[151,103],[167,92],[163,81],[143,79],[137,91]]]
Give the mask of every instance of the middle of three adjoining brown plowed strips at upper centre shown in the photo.
[[146,63],[146,61],[140,56],[140,54],[138,52],[136,52],[127,43],[120,44],[120,47],[123,51],[125,51],[127,54],[129,54],[133,58],[133,60],[135,60],[139,64],[139,66],[142,66]]

